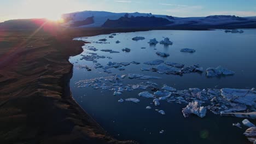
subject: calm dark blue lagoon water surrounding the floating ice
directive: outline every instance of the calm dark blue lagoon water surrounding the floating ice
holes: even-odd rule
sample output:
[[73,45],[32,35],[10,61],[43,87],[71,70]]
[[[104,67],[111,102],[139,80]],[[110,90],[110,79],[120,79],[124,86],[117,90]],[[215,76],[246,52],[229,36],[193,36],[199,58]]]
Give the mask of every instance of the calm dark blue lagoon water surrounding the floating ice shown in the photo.
[[[106,38],[110,44],[86,44],[99,49],[95,53],[100,56],[110,56],[113,59],[98,59],[98,63],[106,65],[107,62],[141,62],[139,65],[130,64],[124,71],[110,69],[113,74],[141,73],[145,75],[160,76],[163,79],[149,80],[158,83],[159,86],[167,84],[179,90],[187,88],[251,88],[256,85],[256,29],[245,29],[245,33],[225,33],[224,31],[149,31],[135,33],[120,33],[114,38],[109,35],[98,35],[84,39],[86,41],[97,41]],[[145,37],[145,40],[133,41],[136,36]],[[173,45],[164,46],[157,44],[150,46],[149,39],[157,40],[170,38]],[[121,41],[115,44],[115,41]],[[122,52],[121,49],[128,47],[131,52]],[[146,47],[146,49],[141,49]],[[183,53],[180,49],[195,49],[195,53]],[[120,53],[102,52],[101,49],[112,49]],[[154,50],[157,49],[157,50]],[[156,51],[166,52],[170,57],[162,58],[155,54]],[[200,118],[191,115],[184,118],[182,108],[186,104],[167,103],[161,101],[160,106],[150,105],[152,99],[138,97],[142,90],[124,92],[120,96],[114,96],[113,91],[101,89],[77,88],[74,84],[79,80],[92,79],[95,77],[109,76],[103,73],[101,68],[94,69],[90,61],[80,60],[81,56],[74,56],[69,59],[74,63],[74,73],[71,79],[73,97],[95,120],[120,140],[136,140],[141,143],[248,143],[243,132],[246,130],[232,127],[232,123],[242,121],[241,118],[220,117],[207,111],[206,117]],[[222,65],[224,68],[235,71],[235,75],[226,77],[205,76],[205,73],[191,73],[178,75],[161,75],[152,71],[141,71],[142,67],[149,65],[143,62],[162,59],[164,61],[182,63],[185,65],[200,64],[204,69]],[[77,63],[75,63],[77,62]],[[92,71],[78,69],[77,65],[88,65]],[[135,84],[148,80],[124,79],[124,84]],[[150,89],[148,89],[150,92]],[[132,102],[118,103],[122,98],[138,98],[138,104]],[[147,110],[146,106],[152,106]],[[154,109],[164,110],[166,115],[160,115]],[[164,134],[159,134],[165,130]]]

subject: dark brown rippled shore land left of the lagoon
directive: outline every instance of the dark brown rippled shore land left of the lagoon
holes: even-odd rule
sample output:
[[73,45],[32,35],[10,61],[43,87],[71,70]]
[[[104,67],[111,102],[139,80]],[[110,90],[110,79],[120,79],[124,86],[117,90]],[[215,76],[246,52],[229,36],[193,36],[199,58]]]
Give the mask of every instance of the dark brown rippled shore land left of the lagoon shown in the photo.
[[134,29],[0,30],[0,143],[136,143],[110,137],[69,91],[73,37]]

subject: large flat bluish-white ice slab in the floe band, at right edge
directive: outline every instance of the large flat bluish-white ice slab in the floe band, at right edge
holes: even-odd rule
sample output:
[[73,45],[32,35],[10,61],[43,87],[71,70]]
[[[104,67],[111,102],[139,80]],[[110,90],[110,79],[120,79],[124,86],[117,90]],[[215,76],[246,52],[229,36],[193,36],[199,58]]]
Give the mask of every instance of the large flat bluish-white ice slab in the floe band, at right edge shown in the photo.
[[251,89],[222,88],[220,91],[222,92],[222,97],[228,101],[256,106],[256,93],[251,91]]

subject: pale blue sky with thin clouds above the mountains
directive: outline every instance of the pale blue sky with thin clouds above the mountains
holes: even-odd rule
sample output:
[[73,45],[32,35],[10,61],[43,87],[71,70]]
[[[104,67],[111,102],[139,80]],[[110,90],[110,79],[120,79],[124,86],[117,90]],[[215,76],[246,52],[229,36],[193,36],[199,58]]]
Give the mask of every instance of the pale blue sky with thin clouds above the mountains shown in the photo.
[[10,19],[60,19],[63,13],[98,10],[178,17],[256,16],[256,0],[0,0],[0,22]]

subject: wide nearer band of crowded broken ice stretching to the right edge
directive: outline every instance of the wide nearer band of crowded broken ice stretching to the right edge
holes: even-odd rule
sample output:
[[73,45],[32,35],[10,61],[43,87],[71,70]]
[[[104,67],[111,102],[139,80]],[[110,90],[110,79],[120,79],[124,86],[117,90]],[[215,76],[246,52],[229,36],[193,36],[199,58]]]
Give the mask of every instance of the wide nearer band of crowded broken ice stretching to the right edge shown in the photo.
[[[188,104],[182,110],[184,117],[188,117],[190,114],[205,117],[206,111],[209,110],[214,114],[221,116],[236,116],[236,112],[240,112],[237,114],[237,117],[256,118],[256,113],[251,113],[251,115],[248,116],[245,113],[255,111],[256,91],[254,91],[254,88],[189,88],[179,91],[176,88],[167,85],[160,87],[157,83],[150,81],[132,85],[123,85],[125,77],[127,77],[127,79],[143,80],[161,79],[161,77],[145,76],[143,74],[112,75],[109,77],[82,80],[77,82],[76,85],[78,87],[92,87],[94,89],[113,91],[113,95],[118,96],[123,92],[144,89],[145,91],[138,93],[138,98],[136,99],[139,99],[139,97],[152,98],[152,103],[155,106],[160,105],[162,100],[169,103]],[[126,101],[136,101],[136,103],[139,103],[139,100],[136,99],[133,98]],[[164,112],[161,111],[161,113]]]

